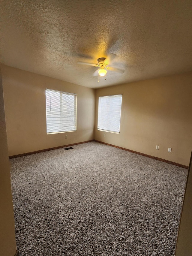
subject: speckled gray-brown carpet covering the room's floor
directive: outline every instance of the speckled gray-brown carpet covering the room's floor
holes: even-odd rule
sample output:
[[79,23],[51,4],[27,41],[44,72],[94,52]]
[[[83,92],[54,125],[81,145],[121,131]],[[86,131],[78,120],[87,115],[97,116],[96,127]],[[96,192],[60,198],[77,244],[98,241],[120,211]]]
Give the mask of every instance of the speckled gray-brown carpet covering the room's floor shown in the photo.
[[73,147],[10,160],[19,255],[174,255],[187,170]]

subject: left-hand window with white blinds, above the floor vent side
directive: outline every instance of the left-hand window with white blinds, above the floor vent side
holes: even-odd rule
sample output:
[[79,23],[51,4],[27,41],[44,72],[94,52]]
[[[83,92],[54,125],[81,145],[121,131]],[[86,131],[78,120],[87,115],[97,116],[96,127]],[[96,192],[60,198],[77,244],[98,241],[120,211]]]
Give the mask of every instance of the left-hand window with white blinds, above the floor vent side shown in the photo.
[[46,89],[47,134],[76,131],[77,95]]

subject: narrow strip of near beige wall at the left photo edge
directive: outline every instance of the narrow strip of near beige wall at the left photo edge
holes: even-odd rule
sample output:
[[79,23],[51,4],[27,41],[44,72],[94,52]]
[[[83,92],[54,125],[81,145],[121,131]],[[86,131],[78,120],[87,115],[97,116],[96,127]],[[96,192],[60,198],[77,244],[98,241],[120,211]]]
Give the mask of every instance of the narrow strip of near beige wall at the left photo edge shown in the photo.
[[3,87],[0,69],[0,255],[16,253],[13,203],[10,185],[10,165],[7,150]]

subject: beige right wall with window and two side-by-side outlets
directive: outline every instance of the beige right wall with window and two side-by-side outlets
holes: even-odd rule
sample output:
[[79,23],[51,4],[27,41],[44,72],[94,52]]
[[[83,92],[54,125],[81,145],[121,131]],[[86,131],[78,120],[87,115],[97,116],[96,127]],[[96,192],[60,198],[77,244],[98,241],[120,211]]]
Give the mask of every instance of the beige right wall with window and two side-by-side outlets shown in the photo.
[[[191,81],[192,73],[187,73],[97,89],[95,139],[188,166],[192,148]],[[122,94],[120,134],[98,131],[98,97],[115,94]]]

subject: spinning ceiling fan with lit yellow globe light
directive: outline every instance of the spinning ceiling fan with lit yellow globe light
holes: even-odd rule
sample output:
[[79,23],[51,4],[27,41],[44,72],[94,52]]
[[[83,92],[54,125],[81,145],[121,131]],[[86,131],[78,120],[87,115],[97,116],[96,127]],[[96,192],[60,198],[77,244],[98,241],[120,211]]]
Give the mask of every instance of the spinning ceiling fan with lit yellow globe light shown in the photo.
[[104,77],[106,74],[107,74],[107,70],[110,70],[110,71],[114,71],[114,72],[118,72],[118,73],[121,73],[123,74],[125,70],[123,69],[120,69],[120,68],[113,68],[111,67],[110,65],[112,64],[113,60],[117,57],[116,54],[113,54],[113,53],[110,53],[107,55],[107,58],[99,58],[97,61],[98,63],[97,64],[94,64],[94,63],[88,63],[88,62],[81,62],[81,61],[78,61],[77,63],[78,64],[82,64],[82,65],[89,65],[89,66],[94,66],[94,67],[99,67],[94,73],[93,75],[94,76],[97,76],[98,74],[101,76],[101,77]]

